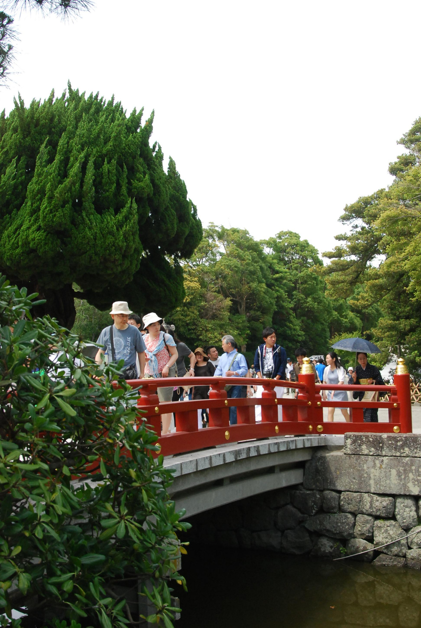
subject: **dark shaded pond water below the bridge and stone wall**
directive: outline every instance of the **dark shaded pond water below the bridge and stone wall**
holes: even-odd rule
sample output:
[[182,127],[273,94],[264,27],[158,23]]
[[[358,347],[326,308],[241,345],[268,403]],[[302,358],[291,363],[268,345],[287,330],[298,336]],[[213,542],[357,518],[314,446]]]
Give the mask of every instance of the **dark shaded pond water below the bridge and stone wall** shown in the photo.
[[176,628],[421,628],[421,572],[190,546]]

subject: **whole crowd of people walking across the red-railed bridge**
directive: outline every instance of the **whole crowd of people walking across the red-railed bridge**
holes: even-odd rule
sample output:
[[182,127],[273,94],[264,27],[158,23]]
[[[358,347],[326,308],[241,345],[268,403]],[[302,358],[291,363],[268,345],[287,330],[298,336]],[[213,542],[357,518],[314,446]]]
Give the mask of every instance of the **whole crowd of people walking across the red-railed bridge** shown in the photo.
[[[105,327],[97,340],[100,349],[95,360],[98,364],[107,359],[113,362],[124,361],[123,376],[125,379],[143,379],[144,377],[179,377],[183,378],[178,387],[158,387],[160,402],[194,399],[203,401],[203,408],[198,411],[198,427],[208,425],[209,416],[206,400],[209,398],[210,386],[195,386],[195,377],[253,377],[256,379],[274,379],[282,382],[297,382],[301,366],[307,353],[302,347],[296,349],[295,362],[292,362],[284,347],[276,342],[276,333],[272,327],[262,332],[262,344],[255,350],[253,364],[248,363],[245,355],[238,352],[237,343],[232,335],[221,338],[222,355],[216,345],[196,347],[194,351],[181,342],[176,336],[174,326],[166,325],[163,318],[155,312],[143,318],[129,309],[126,301],[115,301],[110,311],[113,324]],[[105,358],[106,355],[106,358]],[[378,368],[369,364],[365,353],[356,355],[358,365],[354,371],[350,366],[345,371],[338,355],[331,351],[325,359],[319,356],[310,362],[316,384],[378,384],[383,385]],[[186,366],[186,360],[188,365]],[[324,361],[325,360],[325,361]],[[193,378],[193,379],[189,379]],[[242,386],[235,384],[226,386],[228,398],[255,396],[262,398],[263,387],[256,385]],[[298,391],[291,386],[274,387],[277,398]],[[322,391],[325,401],[352,401],[353,399],[375,399],[375,394],[364,391]],[[328,421],[334,420],[335,408],[328,408]],[[347,408],[341,413],[349,421]],[[261,406],[255,406],[256,421],[261,420]],[[278,408],[279,420],[282,420],[282,407]],[[173,413],[161,415],[162,433],[174,429]],[[378,422],[378,409],[365,408],[364,421]],[[237,408],[230,407],[230,425],[237,423]]]

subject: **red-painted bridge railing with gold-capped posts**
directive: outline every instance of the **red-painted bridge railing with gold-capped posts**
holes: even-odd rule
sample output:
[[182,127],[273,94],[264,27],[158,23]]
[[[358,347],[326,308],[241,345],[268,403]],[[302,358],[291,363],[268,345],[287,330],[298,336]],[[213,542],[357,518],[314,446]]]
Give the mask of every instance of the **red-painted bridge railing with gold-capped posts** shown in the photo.
[[[313,374],[300,374],[298,382],[273,379],[246,379],[245,377],[195,377],[194,379],[164,378],[141,379],[128,382],[139,389],[139,408],[145,411],[147,423],[159,436],[161,453],[170,455],[270,436],[344,434],[359,432],[412,432],[410,376],[397,374],[393,386],[316,385]],[[228,399],[224,387],[263,386],[262,398]],[[158,387],[210,386],[209,399],[203,401],[169,401],[159,403]],[[298,389],[296,399],[277,398],[274,387]],[[378,391],[389,393],[389,401],[322,401],[322,390]],[[229,409],[237,407],[237,425],[230,425]],[[262,421],[256,423],[255,406],[262,406]],[[282,406],[282,420],[278,408]],[[323,408],[349,408],[350,423],[323,420]],[[198,409],[209,411],[209,426],[198,428]],[[364,408],[387,408],[388,423],[364,423]],[[161,435],[161,414],[175,413],[176,431]]]

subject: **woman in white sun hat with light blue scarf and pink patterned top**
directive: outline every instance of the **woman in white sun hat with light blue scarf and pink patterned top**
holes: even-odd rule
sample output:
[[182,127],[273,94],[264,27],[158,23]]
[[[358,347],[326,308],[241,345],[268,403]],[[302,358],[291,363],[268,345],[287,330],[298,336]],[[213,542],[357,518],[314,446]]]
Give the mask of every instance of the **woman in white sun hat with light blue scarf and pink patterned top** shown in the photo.
[[[155,312],[146,314],[142,318],[147,333],[143,340],[146,344],[147,363],[145,367],[146,377],[176,377],[176,359],[178,352],[174,338],[169,333],[161,332],[163,319]],[[159,401],[171,401],[173,398],[173,386],[158,388]],[[169,425],[173,413],[161,414],[163,422],[163,434],[168,434]]]

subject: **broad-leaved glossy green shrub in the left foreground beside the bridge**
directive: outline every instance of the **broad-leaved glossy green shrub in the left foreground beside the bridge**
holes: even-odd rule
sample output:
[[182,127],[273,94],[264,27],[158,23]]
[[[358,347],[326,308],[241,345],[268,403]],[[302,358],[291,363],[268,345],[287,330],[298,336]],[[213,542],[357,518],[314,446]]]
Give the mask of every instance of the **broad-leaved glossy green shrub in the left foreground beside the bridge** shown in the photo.
[[156,433],[136,391],[112,386],[115,366],[80,365],[80,338],[32,320],[35,305],[0,279],[2,625],[17,627],[6,616],[29,604],[31,626],[123,628],[116,587],[139,579],[156,607],[149,620],[170,627],[169,581],[184,582],[177,534],[189,525],[168,497],[171,470],[152,457]]

